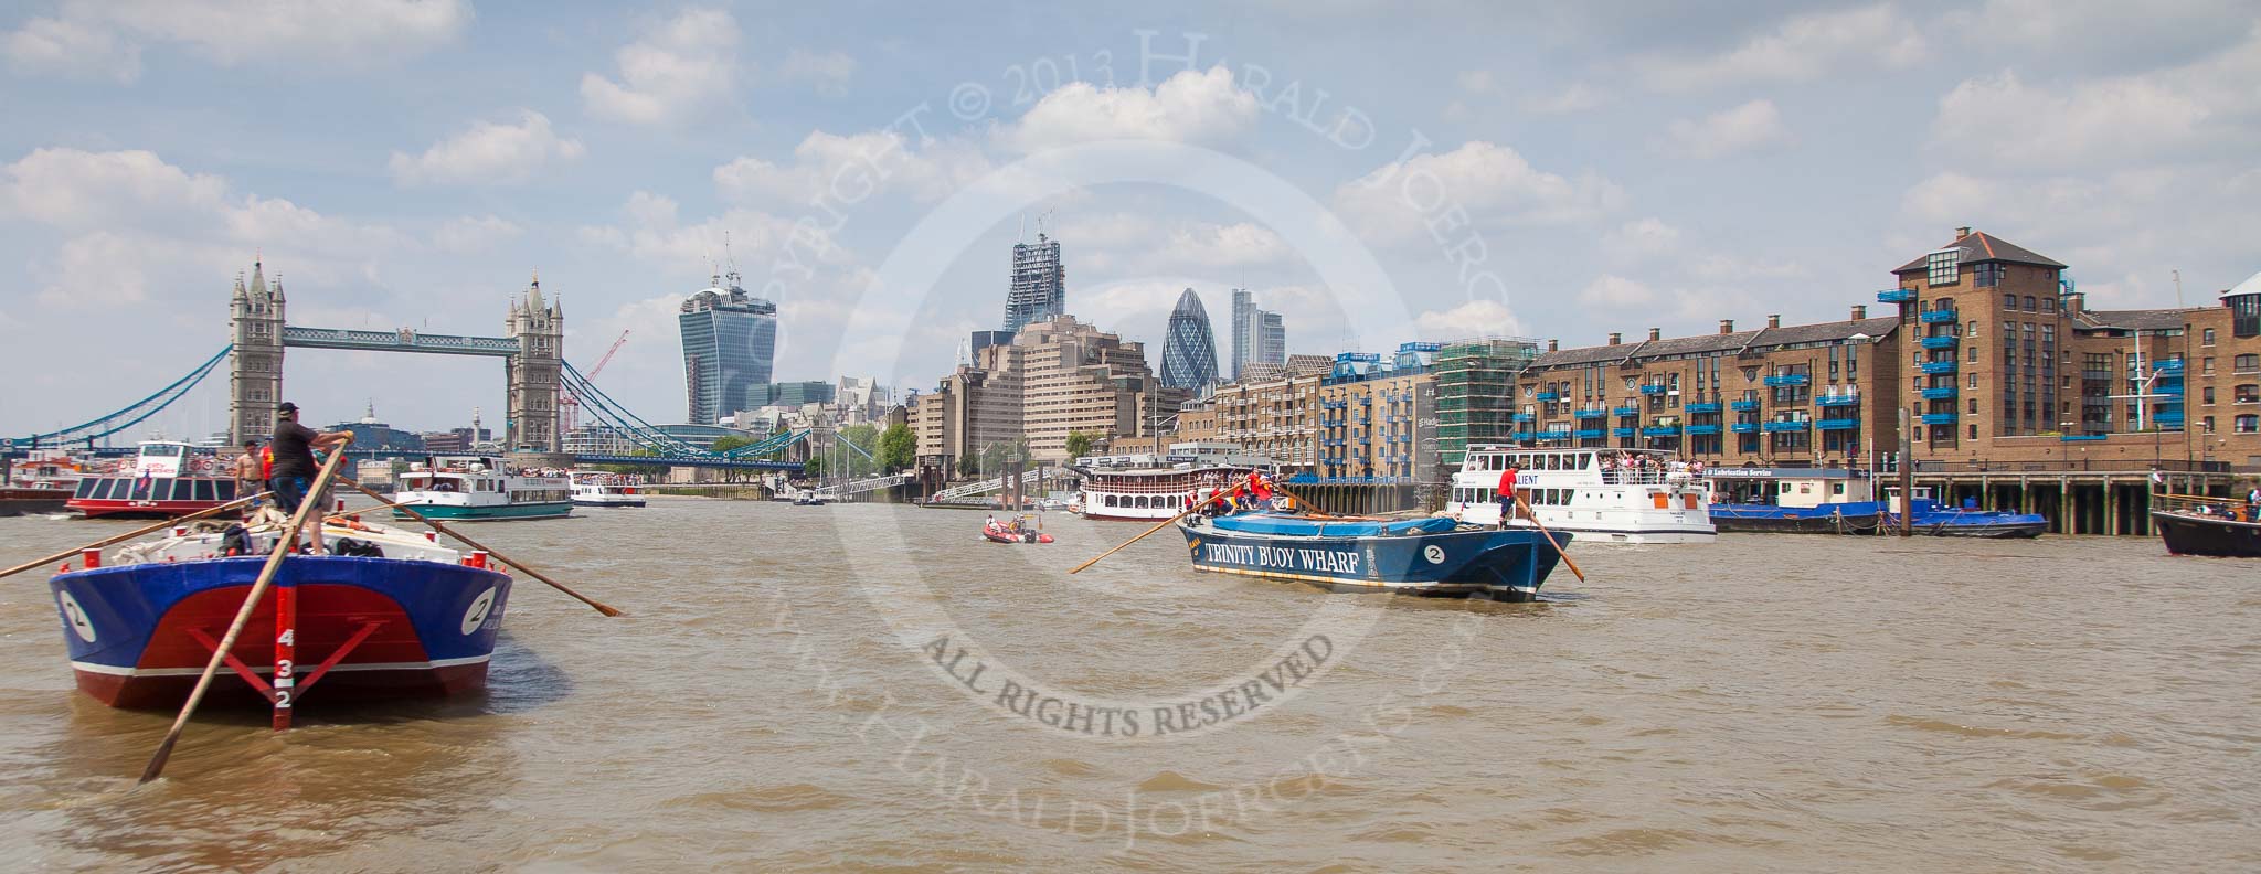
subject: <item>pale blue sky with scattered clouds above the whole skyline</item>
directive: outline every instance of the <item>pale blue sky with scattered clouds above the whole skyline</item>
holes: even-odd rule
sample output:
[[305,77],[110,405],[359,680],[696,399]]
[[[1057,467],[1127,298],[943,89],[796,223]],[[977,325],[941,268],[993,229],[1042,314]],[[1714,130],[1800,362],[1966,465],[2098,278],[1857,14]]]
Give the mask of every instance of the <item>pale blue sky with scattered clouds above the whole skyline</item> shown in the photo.
[[[1845,318],[1958,226],[2094,309],[2261,269],[2247,0],[1693,7],[9,2],[0,436],[215,355],[253,257],[310,327],[495,337],[538,273],[653,422],[721,269],[778,379],[932,388],[1038,233],[1153,366],[1187,287],[1334,355]],[[493,359],[285,370],[317,422],[502,418]],[[145,431],[224,422],[215,377]]]

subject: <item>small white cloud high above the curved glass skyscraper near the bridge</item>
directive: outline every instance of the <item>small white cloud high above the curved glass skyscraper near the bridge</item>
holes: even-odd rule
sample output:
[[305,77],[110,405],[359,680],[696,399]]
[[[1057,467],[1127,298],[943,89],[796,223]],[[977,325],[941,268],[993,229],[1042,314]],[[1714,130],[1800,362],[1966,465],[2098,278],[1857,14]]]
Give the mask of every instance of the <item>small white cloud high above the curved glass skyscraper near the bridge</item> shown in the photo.
[[613,54],[620,79],[581,77],[590,115],[629,124],[676,124],[728,99],[737,81],[737,18],[685,9]]

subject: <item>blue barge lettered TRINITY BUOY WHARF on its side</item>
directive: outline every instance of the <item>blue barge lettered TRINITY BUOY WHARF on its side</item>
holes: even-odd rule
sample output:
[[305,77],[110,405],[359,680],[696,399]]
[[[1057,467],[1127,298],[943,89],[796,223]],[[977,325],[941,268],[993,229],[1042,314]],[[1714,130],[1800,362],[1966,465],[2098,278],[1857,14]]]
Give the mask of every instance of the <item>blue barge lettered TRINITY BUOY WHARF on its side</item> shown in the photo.
[[[1533,528],[1454,519],[1332,519],[1244,513],[1178,522],[1196,571],[1298,580],[1329,592],[1533,601],[1560,562]],[[1556,533],[1569,544],[1567,533]]]

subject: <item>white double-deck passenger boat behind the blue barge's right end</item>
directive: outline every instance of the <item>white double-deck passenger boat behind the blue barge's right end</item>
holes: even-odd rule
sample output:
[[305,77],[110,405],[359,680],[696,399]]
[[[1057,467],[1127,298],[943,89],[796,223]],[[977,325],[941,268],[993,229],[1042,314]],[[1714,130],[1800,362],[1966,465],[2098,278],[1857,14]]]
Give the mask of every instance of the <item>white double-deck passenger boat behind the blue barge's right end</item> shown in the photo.
[[[1540,524],[1576,531],[1583,542],[1712,542],[1709,490],[1673,470],[1655,449],[1524,449],[1476,445],[1452,477],[1445,510],[1472,524],[1499,524],[1499,474],[1517,467],[1515,490]],[[1528,524],[1517,519],[1517,524]]]

